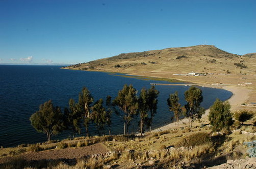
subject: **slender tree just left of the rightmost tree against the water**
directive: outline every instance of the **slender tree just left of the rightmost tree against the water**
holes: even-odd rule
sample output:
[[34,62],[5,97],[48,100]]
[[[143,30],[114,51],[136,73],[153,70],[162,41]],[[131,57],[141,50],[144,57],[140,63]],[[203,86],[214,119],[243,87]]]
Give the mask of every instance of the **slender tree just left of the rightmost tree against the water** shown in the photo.
[[174,118],[177,122],[177,129],[178,129],[178,119],[184,113],[186,113],[185,107],[182,107],[180,103],[178,103],[178,92],[176,91],[174,94],[170,94],[169,98],[167,99],[167,104],[169,106],[170,111],[174,113]]

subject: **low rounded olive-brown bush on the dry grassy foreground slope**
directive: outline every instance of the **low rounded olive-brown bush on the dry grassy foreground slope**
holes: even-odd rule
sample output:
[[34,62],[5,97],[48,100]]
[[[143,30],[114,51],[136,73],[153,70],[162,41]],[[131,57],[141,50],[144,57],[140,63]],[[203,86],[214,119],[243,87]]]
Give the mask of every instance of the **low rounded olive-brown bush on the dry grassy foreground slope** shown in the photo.
[[175,144],[175,147],[195,147],[199,145],[204,145],[211,143],[211,138],[207,132],[197,132],[190,136],[182,138],[179,142]]

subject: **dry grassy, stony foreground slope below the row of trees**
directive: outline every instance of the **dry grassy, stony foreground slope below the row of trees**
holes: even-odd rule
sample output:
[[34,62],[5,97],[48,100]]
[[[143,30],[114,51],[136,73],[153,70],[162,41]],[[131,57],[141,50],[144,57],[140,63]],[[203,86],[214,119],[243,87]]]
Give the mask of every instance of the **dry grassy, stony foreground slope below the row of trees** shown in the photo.
[[[256,140],[252,134],[256,132],[252,125],[255,120],[254,117],[243,125],[234,124],[232,133],[212,133],[207,121],[201,121],[192,128],[182,126],[142,137],[82,137],[1,148],[0,168],[203,168],[227,159],[245,158],[248,148],[243,143]],[[81,155],[81,149],[89,152]],[[64,150],[69,154],[63,158],[60,152]],[[48,158],[43,157],[45,153]]]

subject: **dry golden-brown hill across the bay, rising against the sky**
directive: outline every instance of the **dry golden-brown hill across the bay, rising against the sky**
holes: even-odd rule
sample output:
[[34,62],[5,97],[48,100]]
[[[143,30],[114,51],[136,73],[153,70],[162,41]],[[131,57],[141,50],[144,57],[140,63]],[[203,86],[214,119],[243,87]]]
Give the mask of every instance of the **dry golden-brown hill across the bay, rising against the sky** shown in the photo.
[[117,56],[66,67],[66,69],[89,71],[171,74],[192,71],[218,74],[227,72],[232,74],[255,74],[255,68],[255,57],[228,53],[212,45],[122,53]]

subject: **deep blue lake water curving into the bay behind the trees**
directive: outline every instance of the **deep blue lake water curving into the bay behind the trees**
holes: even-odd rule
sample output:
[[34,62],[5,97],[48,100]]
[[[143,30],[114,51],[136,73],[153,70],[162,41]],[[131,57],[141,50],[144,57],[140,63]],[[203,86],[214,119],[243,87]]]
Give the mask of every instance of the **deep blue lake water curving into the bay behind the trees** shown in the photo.
[[[60,66],[34,65],[0,65],[0,146],[17,146],[22,143],[46,141],[46,134],[38,133],[30,123],[30,116],[39,110],[39,105],[49,99],[55,106],[68,107],[69,98],[78,100],[83,86],[86,86],[94,97],[106,98],[117,96],[124,84],[133,84],[137,90],[150,88],[150,83],[168,83],[153,80],[125,78],[102,72],[85,72],[60,69]],[[178,91],[180,102],[185,104],[184,92],[189,86],[157,85],[160,91],[158,113],[153,119],[153,128],[171,122],[172,113],[167,106],[170,93]],[[232,93],[222,89],[199,87],[203,93],[202,107],[208,109],[216,98],[226,100]],[[123,132],[123,122],[120,116],[113,114],[112,133]],[[137,132],[138,123],[132,122],[129,131]],[[89,128],[90,134],[96,134],[94,126]],[[82,136],[85,129],[82,128]],[[52,139],[68,138],[70,132],[65,131]]]

